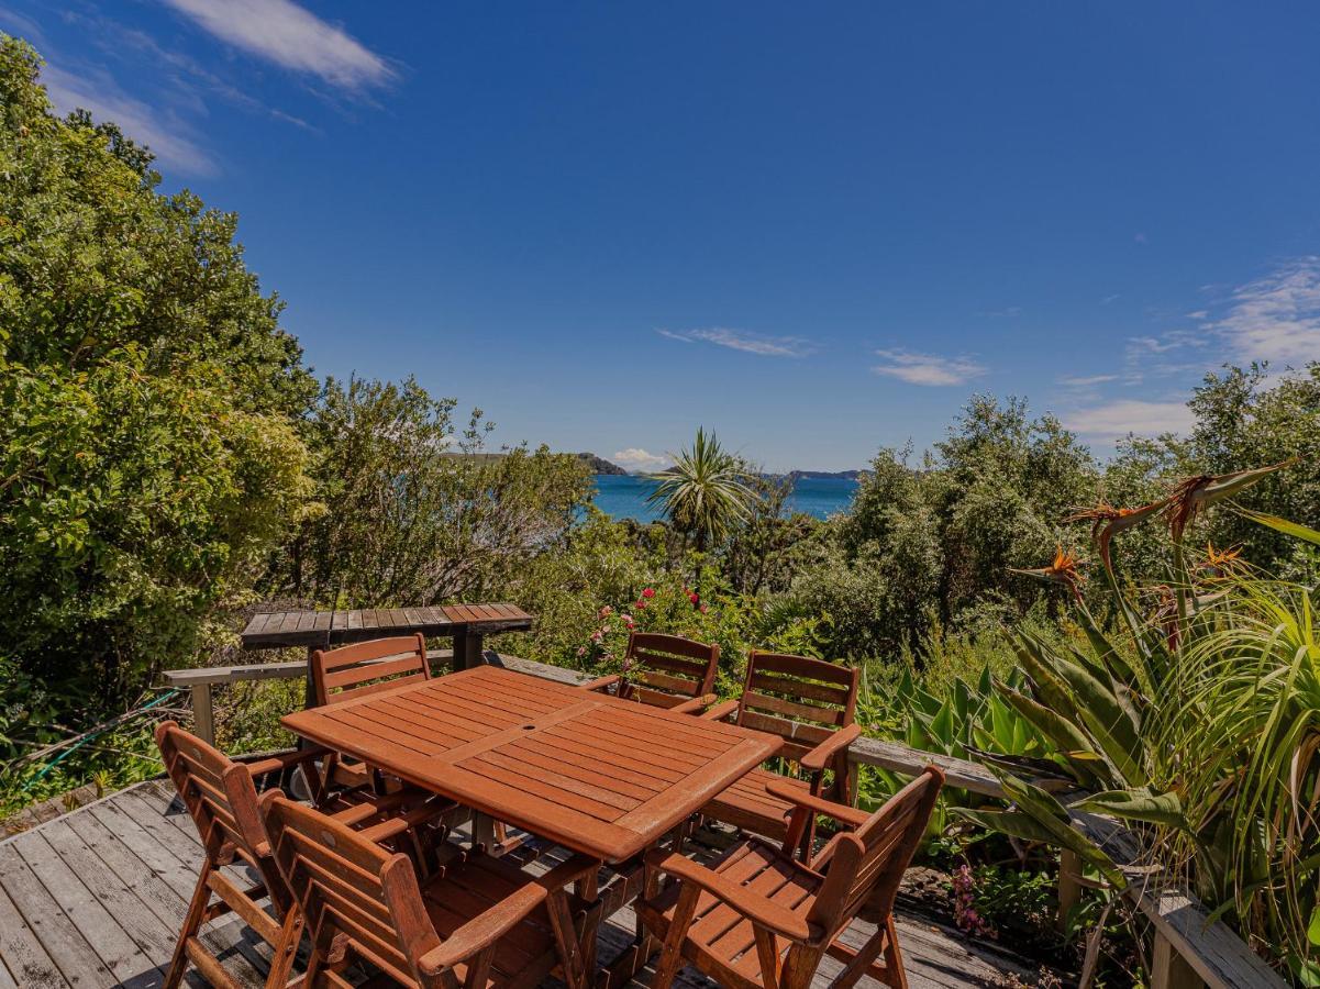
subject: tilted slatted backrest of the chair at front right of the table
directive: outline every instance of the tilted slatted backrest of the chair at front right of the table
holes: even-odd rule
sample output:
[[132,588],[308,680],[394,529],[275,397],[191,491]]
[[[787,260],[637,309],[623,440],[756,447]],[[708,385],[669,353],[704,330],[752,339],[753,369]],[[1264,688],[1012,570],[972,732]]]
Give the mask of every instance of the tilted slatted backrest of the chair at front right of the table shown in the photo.
[[812,860],[825,882],[808,919],[837,931],[863,908],[869,919],[887,916],[942,786],[944,772],[928,766],[854,832],[830,838]]

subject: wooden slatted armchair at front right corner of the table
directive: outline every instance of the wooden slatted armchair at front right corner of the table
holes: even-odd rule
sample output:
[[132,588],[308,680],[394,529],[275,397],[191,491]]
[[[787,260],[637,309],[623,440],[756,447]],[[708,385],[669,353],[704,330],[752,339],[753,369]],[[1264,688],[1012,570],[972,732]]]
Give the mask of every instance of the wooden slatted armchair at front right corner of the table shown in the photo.
[[[931,766],[867,815],[771,783],[793,807],[781,849],[751,838],[710,869],[649,853],[638,914],[664,947],[652,989],[668,989],[684,963],[731,989],[808,989],[826,953],[843,963],[834,986],[851,986],[865,974],[906,989],[894,899],[942,784],[944,774]],[[851,833],[836,833],[804,865],[792,849],[817,813]],[[663,893],[661,873],[678,879]],[[838,940],[854,916],[876,926],[861,948]]]

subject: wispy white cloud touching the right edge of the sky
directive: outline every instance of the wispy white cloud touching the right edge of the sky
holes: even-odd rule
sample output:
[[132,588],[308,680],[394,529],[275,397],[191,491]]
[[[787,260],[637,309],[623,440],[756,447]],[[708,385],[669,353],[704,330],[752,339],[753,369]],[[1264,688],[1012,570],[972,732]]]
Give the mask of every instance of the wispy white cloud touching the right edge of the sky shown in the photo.
[[1300,366],[1320,358],[1320,257],[1288,261],[1234,289],[1209,327],[1241,362]]

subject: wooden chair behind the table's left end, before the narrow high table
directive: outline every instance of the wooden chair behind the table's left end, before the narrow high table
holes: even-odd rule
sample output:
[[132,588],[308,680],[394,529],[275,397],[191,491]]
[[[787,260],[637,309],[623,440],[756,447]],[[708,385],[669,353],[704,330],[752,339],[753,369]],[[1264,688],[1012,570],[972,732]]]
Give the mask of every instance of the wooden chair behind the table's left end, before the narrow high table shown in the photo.
[[[426,638],[421,632],[358,642],[312,654],[312,687],[318,706],[342,704],[354,697],[429,679]],[[331,784],[385,788],[385,780],[379,772],[364,763],[345,759],[338,753],[326,757],[321,772]],[[389,786],[397,788],[399,782],[391,780]]]

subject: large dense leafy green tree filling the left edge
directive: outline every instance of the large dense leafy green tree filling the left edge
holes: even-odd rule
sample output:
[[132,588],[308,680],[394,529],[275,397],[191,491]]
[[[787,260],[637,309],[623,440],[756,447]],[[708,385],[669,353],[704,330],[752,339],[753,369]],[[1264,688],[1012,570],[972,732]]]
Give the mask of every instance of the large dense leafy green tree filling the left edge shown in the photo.
[[232,214],[57,118],[40,65],[0,37],[0,648],[75,720],[248,592],[308,495],[313,388]]

